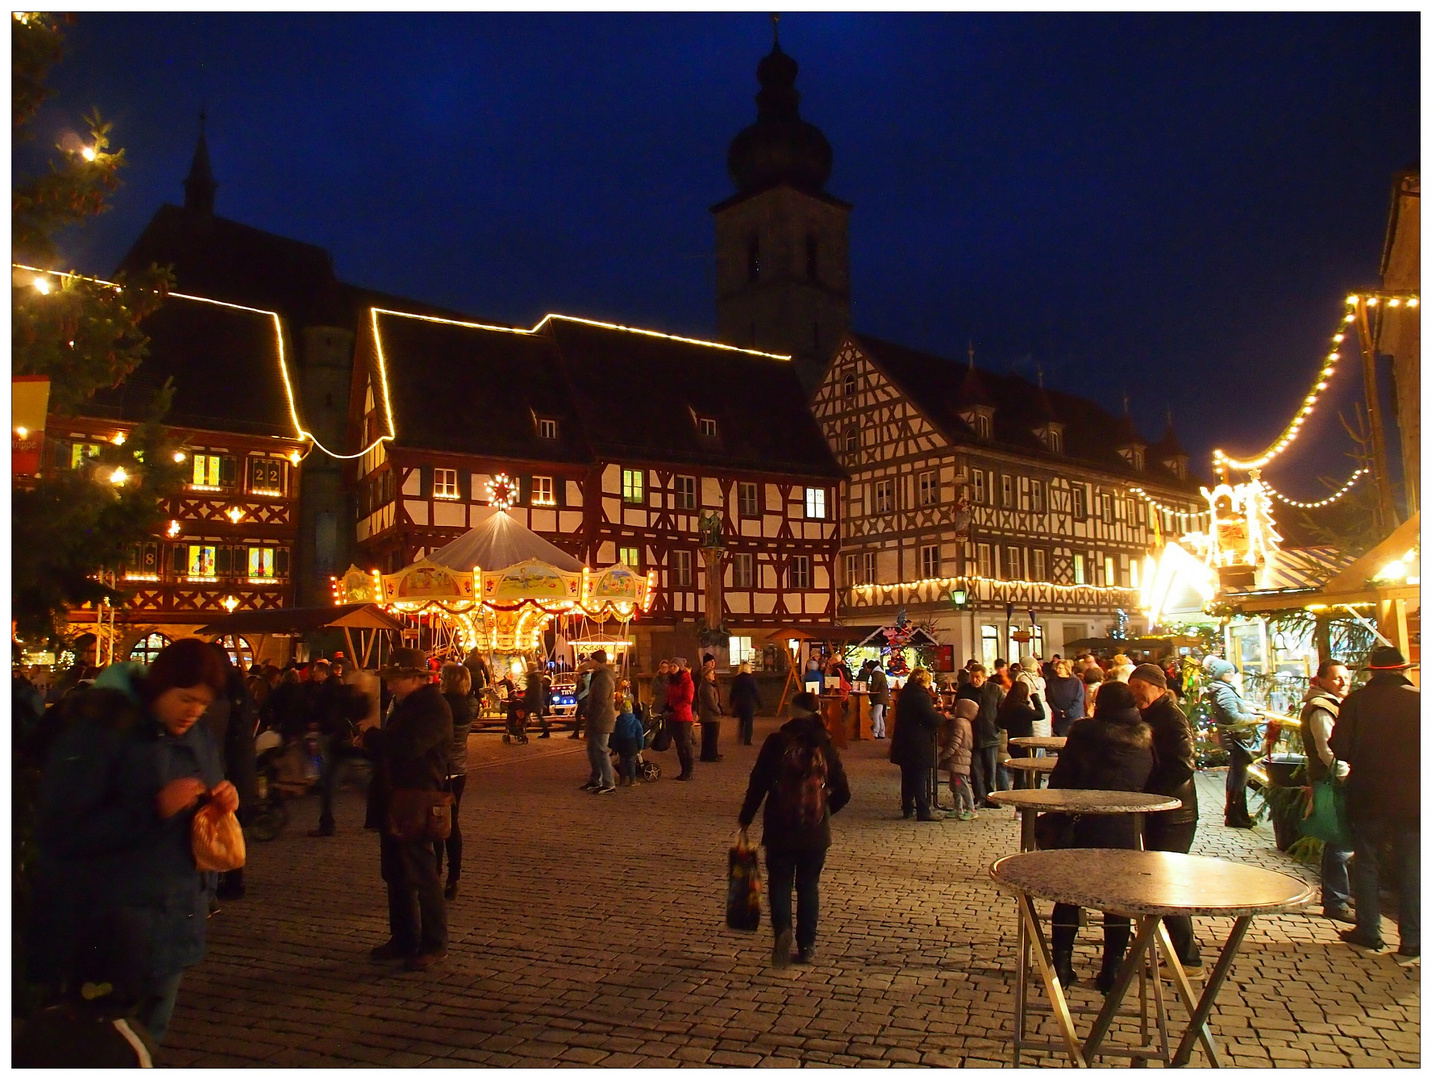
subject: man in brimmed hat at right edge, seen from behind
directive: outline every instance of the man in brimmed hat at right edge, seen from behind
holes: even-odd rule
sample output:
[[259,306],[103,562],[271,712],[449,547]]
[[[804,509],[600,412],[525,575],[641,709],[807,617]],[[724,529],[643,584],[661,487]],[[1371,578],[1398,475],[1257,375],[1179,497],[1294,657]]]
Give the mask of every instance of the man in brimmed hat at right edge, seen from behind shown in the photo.
[[1405,675],[1411,665],[1390,646],[1372,650],[1368,683],[1348,695],[1329,749],[1348,762],[1353,897],[1358,925],[1343,941],[1382,948],[1378,902],[1379,848],[1390,841],[1398,877],[1398,955],[1422,955],[1422,695]]

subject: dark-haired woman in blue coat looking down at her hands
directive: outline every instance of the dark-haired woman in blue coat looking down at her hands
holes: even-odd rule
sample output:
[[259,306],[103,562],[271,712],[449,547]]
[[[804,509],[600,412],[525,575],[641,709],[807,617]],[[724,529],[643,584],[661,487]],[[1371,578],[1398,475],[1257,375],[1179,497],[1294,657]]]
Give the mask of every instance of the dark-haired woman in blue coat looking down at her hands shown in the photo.
[[110,665],[66,703],[40,788],[27,970],[59,987],[92,920],[123,911],[146,944],[139,1020],[163,1041],[186,968],[203,957],[216,875],[195,861],[200,802],[239,806],[208,725],[225,672],[206,643],[165,646],[147,670]]

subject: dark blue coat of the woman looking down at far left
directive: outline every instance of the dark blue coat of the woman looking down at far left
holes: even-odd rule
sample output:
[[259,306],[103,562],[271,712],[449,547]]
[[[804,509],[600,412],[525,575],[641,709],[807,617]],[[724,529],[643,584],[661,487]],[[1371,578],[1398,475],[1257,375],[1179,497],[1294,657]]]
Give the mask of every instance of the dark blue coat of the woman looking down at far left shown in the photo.
[[209,728],[175,738],[145,708],[139,665],[110,665],[64,703],[67,722],[50,749],[36,824],[36,877],[26,974],[60,975],[86,921],[126,908],[143,927],[150,978],[203,957],[213,874],[193,862],[198,806],[159,816],[159,789],[195,776],[223,779]]

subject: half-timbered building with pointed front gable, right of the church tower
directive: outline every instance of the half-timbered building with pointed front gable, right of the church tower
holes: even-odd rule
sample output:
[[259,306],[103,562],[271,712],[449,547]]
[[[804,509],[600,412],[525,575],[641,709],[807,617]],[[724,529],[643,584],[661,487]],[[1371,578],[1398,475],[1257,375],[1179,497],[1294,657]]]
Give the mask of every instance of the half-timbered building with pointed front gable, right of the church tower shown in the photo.
[[961,657],[1137,636],[1144,557],[1199,511],[1171,427],[1151,443],[1127,415],[972,355],[965,367],[848,334],[812,408],[849,474],[842,616],[904,609]]

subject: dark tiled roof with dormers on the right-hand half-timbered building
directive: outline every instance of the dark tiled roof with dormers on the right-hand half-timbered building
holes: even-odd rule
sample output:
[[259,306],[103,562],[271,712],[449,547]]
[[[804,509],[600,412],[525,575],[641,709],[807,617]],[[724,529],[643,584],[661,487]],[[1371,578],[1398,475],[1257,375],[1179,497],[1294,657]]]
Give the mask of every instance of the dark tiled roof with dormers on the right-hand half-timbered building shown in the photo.
[[[957,444],[977,444],[974,431],[959,418],[961,402],[955,387],[967,378],[967,370],[942,357],[896,345],[868,334],[851,334],[851,339],[865,352],[886,378],[929,420],[945,437]],[[994,405],[994,440],[990,445],[1025,457],[1058,461],[1078,461],[1106,473],[1130,480],[1154,480],[1170,487],[1197,491],[1197,480],[1179,480],[1161,461],[1147,460],[1143,471],[1130,466],[1120,454],[1123,424],[1088,398],[1044,390],[1048,410],[1064,424],[1064,453],[1050,451],[1034,435],[1044,418],[1040,415],[1040,387],[1027,378],[992,371],[979,371],[979,385]],[[1130,424],[1131,430],[1131,424]],[[1143,437],[1140,443],[1147,443]]]

